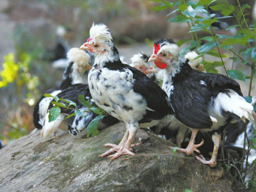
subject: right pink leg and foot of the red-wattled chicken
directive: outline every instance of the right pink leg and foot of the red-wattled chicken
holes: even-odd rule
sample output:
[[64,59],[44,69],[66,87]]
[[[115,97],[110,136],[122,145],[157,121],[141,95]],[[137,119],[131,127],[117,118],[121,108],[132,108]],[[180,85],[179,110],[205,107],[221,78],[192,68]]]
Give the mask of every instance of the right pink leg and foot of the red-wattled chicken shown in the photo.
[[219,150],[219,145],[221,142],[221,135],[218,133],[214,133],[211,137],[212,141],[214,142],[214,151],[212,152],[211,159],[207,161],[203,155],[196,157],[197,160],[201,161],[203,164],[208,164],[210,167],[215,167],[217,165],[217,155]]

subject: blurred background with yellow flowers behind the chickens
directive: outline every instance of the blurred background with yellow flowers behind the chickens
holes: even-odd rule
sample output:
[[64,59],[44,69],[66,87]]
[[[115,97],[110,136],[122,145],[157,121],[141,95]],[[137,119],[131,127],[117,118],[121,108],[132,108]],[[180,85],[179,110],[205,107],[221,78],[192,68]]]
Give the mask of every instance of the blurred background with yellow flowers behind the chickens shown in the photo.
[[[253,7],[254,1],[240,3]],[[169,10],[154,12],[156,5],[147,0],[1,0],[0,71],[7,79],[4,82],[0,77],[0,139],[4,144],[34,129],[36,100],[43,91],[60,85],[63,68],[56,68],[57,61],[88,39],[93,22],[110,28],[120,55],[128,63],[140,51],[151,54],[157,38],[190,37],[186,23],[169,23]],[[248,14],[252,20],[251,11]],[[228,22],[234,23],[232,19]],[[225,29],[217,30],[231,34]],[[200,37],[204,35],[199,33]],[[231,68],[228,57],[225,62]],[[221,67],[217,69],[223,73]],[[236,65],[236,69],[250,74],[245,65]],[[239,83],[247,95],[249,80]],[[252,95],[256,95],[254,84]]]

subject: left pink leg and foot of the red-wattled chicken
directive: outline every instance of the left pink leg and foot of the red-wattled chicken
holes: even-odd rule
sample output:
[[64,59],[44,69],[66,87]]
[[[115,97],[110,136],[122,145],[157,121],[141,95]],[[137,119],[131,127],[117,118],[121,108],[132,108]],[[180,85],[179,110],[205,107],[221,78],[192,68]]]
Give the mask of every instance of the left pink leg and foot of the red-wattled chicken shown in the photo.
[[[197,136],[198,129],[192,129],[191,137],[189,140],[189,143],[186,148],[177,148],[177,151],[184,152],[187,155],[191,155],[195,152],[200,153],[200,151],[197,149],[197,147],[200,147],[204,144],[204,140],[201,141],[199,144],[195,144],[195,139]],[[171,150],[173,150],[174,147],[170,147]]]

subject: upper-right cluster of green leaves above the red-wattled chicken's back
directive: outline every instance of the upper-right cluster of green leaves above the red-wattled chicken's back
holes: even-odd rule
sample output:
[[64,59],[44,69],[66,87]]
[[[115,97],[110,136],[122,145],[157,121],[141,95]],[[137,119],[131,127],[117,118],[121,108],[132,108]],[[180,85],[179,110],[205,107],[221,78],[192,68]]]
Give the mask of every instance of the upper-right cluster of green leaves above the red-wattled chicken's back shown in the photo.
[[[203,59],[205,54],[218,57],[217,59],[221,60],[221,66],[224,67],[227,75],[230,75],[232,78],[245,81],[246,76],[242,72],[226,70],[225,62],[222,58],[227,56],[220,54],[220,50],[229,50],[232,54],[234,54],[232,57],[234,62],[243,62],[244,65],[250,66],[254,72],[252,77],[256,75],[254,69],[256,52],[255,48],[250,46],[250,42],[256,40],[256,34],[253,30],[253,28],[255,28],[255,24],[249,28],[243,15],[243,11],[245,9],[250,9],[250,6],[243,5],[241,10],[238,10],[233,5],[228,4],[227,1],[222,1],[221,4],[218,4],[218,1],[212,0],[201,0],[199,2],[176,1],[175,3],[159,0],[154,2],[160,3],[160,5],[156,6],[153,11],[161,11],[166,9],[171,10],[167,15],[168,17],[170,16],[168,19],[169,22],[187,23],[189,33],[191,34],[191,39],[181,39],[177,42],[177,44],[181,46],[185,42],[190,42],[190,46],[183,48],[180,52],[181,55],[184,55],[188,50],[195,50],[199,53],[199,57],[203,57]],[[220,11],[223,16],[216,17],[215,14],[210,14],[208,12],[208,7],[212,10]],[[211,24],[220,22],[219,19],[228,17],[236,18],[238,24],[229,26],[226,30],[240,28],[237,34],[233,36],[216,34],[213,30],[214,27],[212,27]],[[197,35],[197,32],[199,31],[204,31],[209,35],[200,38]],[[201,46],[202,40],[207,42]],[[239,53],[237,53],[235,49],[233,50],[233,48],[238,44],[244,47]],[[218,70],[215,68],[219,67],[220,65],[215,65],[216,63],[205,60],[203,61],[203,64],[207,72],[218,73]]]

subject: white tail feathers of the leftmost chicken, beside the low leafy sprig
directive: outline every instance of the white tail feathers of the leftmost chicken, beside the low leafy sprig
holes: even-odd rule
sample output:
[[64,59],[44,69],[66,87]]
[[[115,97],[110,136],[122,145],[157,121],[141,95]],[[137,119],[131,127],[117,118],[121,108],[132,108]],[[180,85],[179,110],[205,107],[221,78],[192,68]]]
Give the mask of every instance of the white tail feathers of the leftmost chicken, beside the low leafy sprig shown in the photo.
[[[63,119],[65,119],[66,115],[65,114],[60,114],[58,119],[55,121],[49,122],[49,113],[46,115],[45,123],[44,126],[42,127],[40,137],[43,139],[49,138],[53,132],[55,132],[57,129],[64,130],[63,127],[60,127],[62,125]],[[68,130],[68,127],[67,129]]]

